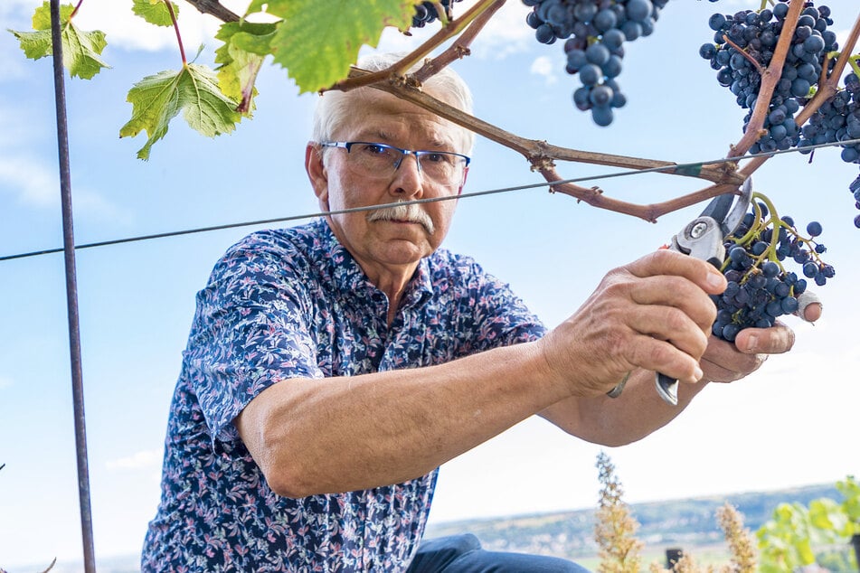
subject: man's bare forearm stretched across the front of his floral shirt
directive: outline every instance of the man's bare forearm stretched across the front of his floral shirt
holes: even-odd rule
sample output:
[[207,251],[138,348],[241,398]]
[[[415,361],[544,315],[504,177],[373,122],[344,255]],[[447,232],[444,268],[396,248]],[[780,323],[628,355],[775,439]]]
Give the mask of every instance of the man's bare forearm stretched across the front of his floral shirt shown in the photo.
[[539,343],[428,368],[284,380],[237,418],[277,493],[304,496],[426,474],[562,399]]

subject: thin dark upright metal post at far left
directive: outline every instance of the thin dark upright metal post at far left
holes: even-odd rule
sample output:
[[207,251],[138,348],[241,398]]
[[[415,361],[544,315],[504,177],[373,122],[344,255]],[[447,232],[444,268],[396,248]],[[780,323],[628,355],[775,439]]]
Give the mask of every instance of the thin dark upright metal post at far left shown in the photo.
[[75,271],[75,240],[71,211],[71,169],[69,131],[66,121],[66,91],[63,83],[60,1],[51,0],[51,40],[53,47],[54,99],[57,107],[57,146],[60,151],[60,194],[62,204],[62,244],[66,270],[66,306],[69,315],[71,392],[74,409],[75,447],[78,458],[78,497],[83,540],[84,570],[95,573],[90,511],[90,470],[87,463],[87,430],[83,409],[83,375],[80,367],[80,324],[78,320],[78,279]]

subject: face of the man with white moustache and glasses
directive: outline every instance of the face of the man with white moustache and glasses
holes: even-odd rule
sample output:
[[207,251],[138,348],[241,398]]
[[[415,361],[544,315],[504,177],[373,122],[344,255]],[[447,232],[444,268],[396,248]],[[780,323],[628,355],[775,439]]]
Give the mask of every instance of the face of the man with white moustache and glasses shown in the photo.
[[[335,141],[368,141],[404,149],[439,150],[463,153],[459,127],[429,111],[376,89],[360,89],[350,94],[349,119],[339,127]],[[441,184],[425,179],[414,156],[404,156],[390,178],[368,181],[350,166],[345,149],[328,148],[321,156],[309,145],[307,173],[320,207],[338,211],[398,201],[457,196],[466,180],[466,170],[458,181]],[[328,217],[335,236],[370,276],[379,273],[407,273],[422,257],[439,247],[449,230],[456,201],[426,202],[409,210],[422,211],[427,221],[407,209],[358,211]],[[430,224],[427,224],[427,223]]]

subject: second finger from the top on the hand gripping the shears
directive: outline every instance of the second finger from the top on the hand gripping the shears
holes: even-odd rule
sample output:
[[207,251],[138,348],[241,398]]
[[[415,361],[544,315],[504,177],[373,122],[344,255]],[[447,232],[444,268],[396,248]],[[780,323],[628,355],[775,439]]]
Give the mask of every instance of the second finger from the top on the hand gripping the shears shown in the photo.
[[630,298],[638,305],[674,307],[709,332],[716,319],[716,306],[695,283],[684,277],[646,277],[630,286]]

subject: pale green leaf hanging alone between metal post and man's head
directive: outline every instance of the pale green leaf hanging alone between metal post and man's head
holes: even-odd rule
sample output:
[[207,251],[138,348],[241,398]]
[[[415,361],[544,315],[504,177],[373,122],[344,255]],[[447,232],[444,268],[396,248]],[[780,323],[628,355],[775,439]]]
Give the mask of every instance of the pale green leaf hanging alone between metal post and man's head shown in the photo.
[[188,125],[204,136],[230,133],[241,121],[236,102],[218,89],[215,72],[189,63],[182,70],[166,70],[138,81],[128,91],[131,119],[119,129],[119,136],[137,136],[145,130],[149,137],[137,158],[149,159],[149,150],[167,133],[170,120],[183,111]]

